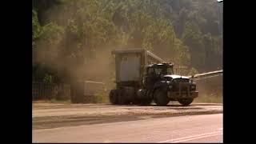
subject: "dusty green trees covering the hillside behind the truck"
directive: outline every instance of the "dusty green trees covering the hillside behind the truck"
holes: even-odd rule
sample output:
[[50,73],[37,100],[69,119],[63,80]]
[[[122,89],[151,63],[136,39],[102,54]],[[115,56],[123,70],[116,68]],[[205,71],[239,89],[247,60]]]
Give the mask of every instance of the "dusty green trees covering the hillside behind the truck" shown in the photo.
[[32,26],[36,81],[94,74],[113,83],[110,50],[118,48],[152,50],[187,74],[222,69],[222,3],[214,0],[33,0]]

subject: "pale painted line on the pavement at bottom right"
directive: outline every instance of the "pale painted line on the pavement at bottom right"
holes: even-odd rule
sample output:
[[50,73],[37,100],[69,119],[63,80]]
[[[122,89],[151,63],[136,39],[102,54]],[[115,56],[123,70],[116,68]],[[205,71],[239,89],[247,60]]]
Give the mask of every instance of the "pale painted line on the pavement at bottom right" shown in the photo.
[[190,140],[193,140],[193,139],[206,138],[206,137],[215,136],[215,135],[219,135],[219,134],[222,134],[222,133],[221,133],[220,131],[215,131],[215,132],[211,132],[211,133],[198,134],[198,135],[193,135],[193,136],[189,136],[189,137],[182,137],[182,138],[169,139],[169,140],[162,141],[162,142],[158,142],[158,143],[165,143],[165,142],[185,142],[185,141],[190,141]]

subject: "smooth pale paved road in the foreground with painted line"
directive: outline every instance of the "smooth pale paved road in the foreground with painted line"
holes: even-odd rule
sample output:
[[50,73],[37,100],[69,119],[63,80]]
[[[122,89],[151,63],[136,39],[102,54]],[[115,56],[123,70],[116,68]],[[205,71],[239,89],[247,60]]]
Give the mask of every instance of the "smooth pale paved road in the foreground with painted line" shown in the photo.
[[222,114],[33,130],[33,142],[222,142]]

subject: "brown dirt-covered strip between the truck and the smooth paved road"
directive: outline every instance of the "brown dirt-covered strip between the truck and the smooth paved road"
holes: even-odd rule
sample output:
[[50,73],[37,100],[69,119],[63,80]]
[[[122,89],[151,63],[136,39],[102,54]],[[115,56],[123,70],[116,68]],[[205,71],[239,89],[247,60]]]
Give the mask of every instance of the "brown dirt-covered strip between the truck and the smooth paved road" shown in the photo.
[[80,126],[105,122],[134,121],[193,114],[222,113],[222,104],[192,103],[181,106],[170,102],[168,106],[112,106],[110,104],[57,104],[33,103],[33,129],[62,126]]

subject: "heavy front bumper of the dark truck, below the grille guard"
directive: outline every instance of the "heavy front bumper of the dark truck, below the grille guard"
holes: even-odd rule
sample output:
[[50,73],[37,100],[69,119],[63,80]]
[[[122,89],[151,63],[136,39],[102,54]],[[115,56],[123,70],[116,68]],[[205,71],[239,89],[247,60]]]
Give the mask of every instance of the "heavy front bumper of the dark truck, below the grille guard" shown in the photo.
[[197,98],[198,97],[198,91],[168,91],[167,94],[168,98]]

